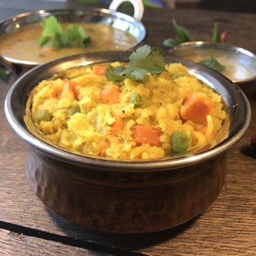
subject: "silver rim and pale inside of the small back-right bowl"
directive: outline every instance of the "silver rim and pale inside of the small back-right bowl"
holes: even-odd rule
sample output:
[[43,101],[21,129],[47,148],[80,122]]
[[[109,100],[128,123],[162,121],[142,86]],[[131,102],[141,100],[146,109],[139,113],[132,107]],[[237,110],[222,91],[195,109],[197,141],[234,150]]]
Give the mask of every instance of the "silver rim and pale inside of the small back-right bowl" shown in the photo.
[[[230,67],[227,66],[226,68],[234,69],[232,71],[233,77],[230,74],[228,77],[225,71],[223,73],[224,76],[227,76],[232,82],[238,84],[248,83],[256,79],[256,55],[234,45],[202,41],[186,42],[171,49],[170,55],[184,59],[187,59],[189,56],[205,56],[205,58],[218,56],[225,59],[225,56],[227,56],[229,59],[228,63],[232,62],[232,65],[230,64]],[[225,65],[225,63],[223,64]],[[243,77],[239,78],[239,76]]]

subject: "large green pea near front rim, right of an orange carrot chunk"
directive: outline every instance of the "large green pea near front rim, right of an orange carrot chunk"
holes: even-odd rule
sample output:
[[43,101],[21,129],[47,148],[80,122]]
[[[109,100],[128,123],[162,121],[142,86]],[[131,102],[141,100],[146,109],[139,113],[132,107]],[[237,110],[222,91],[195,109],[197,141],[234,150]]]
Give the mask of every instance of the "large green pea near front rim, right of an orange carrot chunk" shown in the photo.
[[186,131],[175,131],[172,134],[172,150],[173,152],[182,152],[191,145],[191,138]]

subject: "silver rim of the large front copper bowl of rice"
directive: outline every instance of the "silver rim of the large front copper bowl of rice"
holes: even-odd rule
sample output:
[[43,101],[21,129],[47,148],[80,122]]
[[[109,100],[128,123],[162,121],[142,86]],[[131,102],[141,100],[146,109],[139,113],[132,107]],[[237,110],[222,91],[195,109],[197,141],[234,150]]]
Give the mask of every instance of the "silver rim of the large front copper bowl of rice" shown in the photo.
[[[47,156],[53,157],[54,159],[58,159],[61,162],[65,163],[72,163],[77,166],[90,166],[90,168],[93,168],[94,170],[113,170],[116,172],[154,172],[158,170],[173,170],[177,168],[182,168],[185,166],[190,166],[194,164],[198,164],[204,161],[207,161],[208,159],[212,159],[213,157],[219,156],[221,153],[225,152],[228,148],[232,147],[232,145],[236,144],[237,141],[239,141],[244,132],[246,132],[246,129],[250,125],[250,119],[251,119],[251,108],[250,108],[250,102],[244,95],[243,91],[237,86],[236,84],[232,83],[227,77],[222,76],[220,73],[215,72],[211,68],[204,67],[202,65],[198,65],[194,63],[193,61],[183,60],[179,58],[173,58],[168,57],[166,58],[172,58],[172,60],[175,60],[175,62],[182,61],[183,63],[189,63],[190,65],[193,65],[193,67],[200,68],[201,70],[204,70],[205,72],[210,73],[214,78],[221,79],[229,86],[234,86],[234,93],[240,93],[241,100],[243,100],[243,104],[246,107],[246,115],[243,116],[243,125],[239,126],[239,130],[236,130],[236,134],[232,134],[232,136],[228,136],[227,139],[224,141],[221,141],[221,143],[218,143],[213,148],[210,148],[209,150],[206,150],[204,152],[200,152],[199,154],[193,154],[191,156],[186,157],[179,157],[174,159],[153,159],[149,161],[118,161],[118,160],[110,160],[110,159],[100,159],[100,158],[93,158],[89,156],[79,156],[77,154],[74,154],[72,152],[68,152],[66,150],[61,150],[61,148],[54,147],[53,145],[50,145],[49,143],[40,140],[36,136],[34,136],[31,132],[28,131],[28,128],[22,127],[22,125],[19,123],[18,118],[15,116],[15,113],[13,112],[12,108],[12,97],[13,97],[13,91],[17,86],[19,86],[20,82],[25,79],[27,76],[30,76],[31,74],[36,74],[37,72],[40,72],[40,70],[49,69],[51,67],[54,67],[54,65],[58,65],[60,63],[65,63],[70,60],[77,60],[79,58],[89,57],[89,56],[95,56],[95,54],[108,54],[111,56],[111,54],[128,54],[127,51],[118,51],[118,52],[91,52],[91,53],[84,53],[84,54],[76,54],[73,56],[67,56],[58,60],[51,61],[49,63],[45,63],[42,65],[39,65],[25,74],[23,74],[15,83],[12,85],[10,90],[8,91],[6,95],[6,99],[4,102],[4,111],[6,114],[6,118],[9,122],[9,124],[12,126],[12,129],[29,145],[36,148],[37,150],[40,150],[40,152],[46,154]],[[106,62],[106,61],[105,61]],[[173,62],[173,61],[172,61]],[[100,63],[100,61],[98,62]],[[89,65],[88,63],[87,65]],[[77,65],[79,66],[79,65]],[[233,89],[232,89],[233,90]]]

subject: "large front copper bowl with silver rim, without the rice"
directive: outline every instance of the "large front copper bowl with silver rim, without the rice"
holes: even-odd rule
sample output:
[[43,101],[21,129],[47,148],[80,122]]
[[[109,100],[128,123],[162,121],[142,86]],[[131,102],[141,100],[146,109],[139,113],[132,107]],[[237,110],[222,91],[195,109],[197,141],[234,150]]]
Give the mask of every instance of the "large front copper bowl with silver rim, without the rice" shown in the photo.
[[236,84],[209,68],[181,62],[225,100],[230,116],[227,138],[187,156],[155,161],[111,161],[72,154],[28,131],[28,94],[42,79],[69,67],[127,61],[129,52],[94,52],[35,67],[10,88],[5,112],[13,130],[29,144],[27,172],[33,191],[67,220],[106,232],[145,233],[191,220],[214,201],[225,182],[226,151],[250,123],[250,104]]

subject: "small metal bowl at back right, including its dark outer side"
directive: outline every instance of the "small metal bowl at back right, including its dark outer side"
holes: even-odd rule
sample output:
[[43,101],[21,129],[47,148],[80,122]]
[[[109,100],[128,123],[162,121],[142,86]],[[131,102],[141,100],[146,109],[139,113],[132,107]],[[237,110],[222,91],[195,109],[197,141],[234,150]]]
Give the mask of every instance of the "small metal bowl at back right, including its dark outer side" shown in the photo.
[[238,84],[249,99],[254,97],[256,55],[253,52],[234,45],[195,41],[177,45],[169,53],[196,63],[213,56],[221,65],[225,65],[223,76]]

